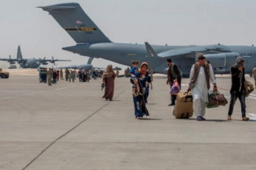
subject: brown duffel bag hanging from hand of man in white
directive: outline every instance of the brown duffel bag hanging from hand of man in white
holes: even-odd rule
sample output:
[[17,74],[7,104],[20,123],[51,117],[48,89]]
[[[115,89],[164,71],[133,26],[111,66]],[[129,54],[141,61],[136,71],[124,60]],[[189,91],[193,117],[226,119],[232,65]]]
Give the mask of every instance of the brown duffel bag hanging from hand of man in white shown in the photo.
[[219,92],[209,93],[208,99],[207,108],[218,108],[218,106],[225,106],[228,103],[224,94],[220,94]]

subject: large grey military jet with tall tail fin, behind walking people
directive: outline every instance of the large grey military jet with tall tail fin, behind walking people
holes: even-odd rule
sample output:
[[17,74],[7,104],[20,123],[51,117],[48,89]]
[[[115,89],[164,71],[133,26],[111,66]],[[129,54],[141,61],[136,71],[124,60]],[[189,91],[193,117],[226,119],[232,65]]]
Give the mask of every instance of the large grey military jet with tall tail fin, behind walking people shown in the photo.
[[256,47],[242,45],[150,45],[112,42],[85,14],[78,3],[62,3],[42,6],[67,31],[76,45],[64,47],[82,56],[97,57],[131,65],[131,60],[148,62],[155,73],[166,74],[166,58],[179,65],[184,76],[188,76],[198,54],[204,54],[212,64],[215,74],[229,74],[236,57],[243,56],[246,73],[251,73],[256,63]]

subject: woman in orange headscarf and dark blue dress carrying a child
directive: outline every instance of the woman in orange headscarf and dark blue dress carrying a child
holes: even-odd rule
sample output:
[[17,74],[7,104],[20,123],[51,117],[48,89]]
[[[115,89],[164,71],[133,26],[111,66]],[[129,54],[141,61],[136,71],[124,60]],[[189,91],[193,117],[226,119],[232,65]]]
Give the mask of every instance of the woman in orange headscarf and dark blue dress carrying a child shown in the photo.
[[140,94],[138,96],[133,96],[134,100],[134,114],[136,119],[141,119],[143,116],[149,116],[148,110],[146,108],[146,82],[148,81],[148,64],[143,62],[140,65],[140,78],[138,78],[138,82],[140,85]]

